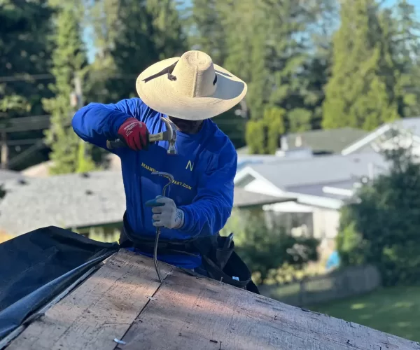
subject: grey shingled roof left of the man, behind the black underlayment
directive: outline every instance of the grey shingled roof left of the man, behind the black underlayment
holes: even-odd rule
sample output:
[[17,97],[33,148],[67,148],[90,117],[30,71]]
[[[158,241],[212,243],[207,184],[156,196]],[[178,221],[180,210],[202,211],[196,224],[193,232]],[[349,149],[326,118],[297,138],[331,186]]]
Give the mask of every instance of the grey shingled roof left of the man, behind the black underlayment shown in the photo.
[[125,211],[123,179],[119,172],[66,174],[7,181],[0,202],[0,229],[20,235],[55,225],[83,228],[118,223]]

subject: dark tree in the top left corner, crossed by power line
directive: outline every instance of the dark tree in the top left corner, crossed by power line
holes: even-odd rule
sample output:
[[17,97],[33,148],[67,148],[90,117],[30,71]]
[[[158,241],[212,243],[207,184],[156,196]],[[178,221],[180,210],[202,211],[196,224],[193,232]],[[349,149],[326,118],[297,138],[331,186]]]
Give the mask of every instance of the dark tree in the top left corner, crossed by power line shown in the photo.
[[[50,16],[47,0],[0,2],[0,76],[45,74],[50,69]],[[48,81],[48,80],[47,80]],[[43,114],[42,97],[50,91],[41,82],[0,81],[0,105],[8,118],[25,116],[28,111]]]

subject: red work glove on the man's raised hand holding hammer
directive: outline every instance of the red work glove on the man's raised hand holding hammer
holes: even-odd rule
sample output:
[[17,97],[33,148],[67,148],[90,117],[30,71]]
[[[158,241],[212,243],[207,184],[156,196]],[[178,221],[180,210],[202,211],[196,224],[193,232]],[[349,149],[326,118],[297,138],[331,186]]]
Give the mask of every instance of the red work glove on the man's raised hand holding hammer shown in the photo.
[[148,149],[148,136],[146,124],[136,118],[128,118],[118,129],[118,135],[125,144],[134,151]]

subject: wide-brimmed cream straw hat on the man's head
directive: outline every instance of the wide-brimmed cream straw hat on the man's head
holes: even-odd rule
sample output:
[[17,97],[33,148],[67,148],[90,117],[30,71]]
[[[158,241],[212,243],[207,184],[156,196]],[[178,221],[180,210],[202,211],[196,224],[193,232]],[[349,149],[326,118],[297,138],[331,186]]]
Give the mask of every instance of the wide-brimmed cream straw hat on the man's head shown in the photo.
[[246,83],[201,51],[164,59],[137,78],[137,93],[151,109],[179,119],[203,120],[228,111],[246,94]]

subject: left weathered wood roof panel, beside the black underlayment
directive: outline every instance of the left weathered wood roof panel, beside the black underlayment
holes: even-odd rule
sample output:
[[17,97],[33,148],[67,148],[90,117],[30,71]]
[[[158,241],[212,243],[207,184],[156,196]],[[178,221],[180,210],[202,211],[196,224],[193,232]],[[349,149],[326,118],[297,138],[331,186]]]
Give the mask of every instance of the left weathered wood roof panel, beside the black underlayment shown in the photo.
[[[172,270],[160,267],[163,277]],[[159,286],[153,260],[121,250],[7,349],[114,349],[113,339],[123,337]]]

